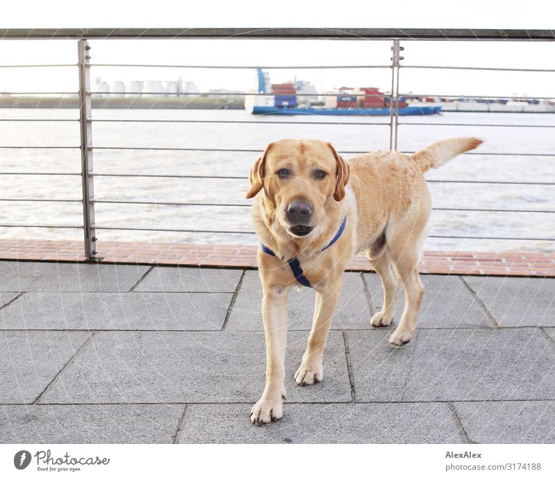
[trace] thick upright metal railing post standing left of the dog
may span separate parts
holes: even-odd
[[[83,230],[85,256],[96,257],[96,232],[94,224],[94,185],[92,176],[92,116],[90,46],[87,40],[78,40],[79,67],[79,127],[81,132],[81,179],[83,182]]]

